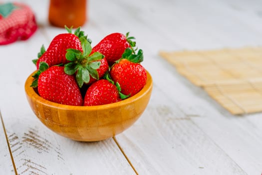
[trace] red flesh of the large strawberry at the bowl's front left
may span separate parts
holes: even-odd
[[[39,74],[38,93],[44,99],[67,105],[82,105],[80,89],[63,66],[51,66]]]

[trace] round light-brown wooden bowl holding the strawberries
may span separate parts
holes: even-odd
[[[35,115],[52,131],[79,141],[103,140],[130,127],[145,110],[153,86],[152,77],[147,72],[146,85],[134,96],[111,104],[71,106],[40,97],[30,87],[32,74],[24,86]]]

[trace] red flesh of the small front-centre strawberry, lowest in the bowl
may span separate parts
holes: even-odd
[[[102,105],[120,101],[120,95],[116,85],[107,79],[95,81],[87,89],[84,97],[84,105]]]

